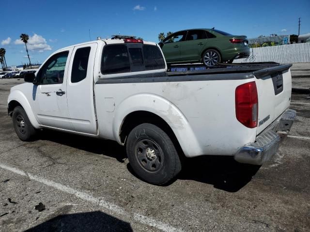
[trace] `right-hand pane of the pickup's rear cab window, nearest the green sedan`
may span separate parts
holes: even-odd
[[[143,55],[146,70],[165,68],[164,58],[157,46],[143,45]]]

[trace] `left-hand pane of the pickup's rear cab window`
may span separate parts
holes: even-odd
[[[101,58],[101,73],[130,72],[129,57],[126,45],[106,45]]]

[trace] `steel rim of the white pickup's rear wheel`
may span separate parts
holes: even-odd
[[[140,139],[135,146],[135,156],[140,166],[149,173],[157,173],[164,164],[161,147],[152,139]]]

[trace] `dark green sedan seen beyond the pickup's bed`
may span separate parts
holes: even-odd
[[[170,64],[202,62],[206,66],[214,66],[250,55],[247,36],[217,29],[177,31],[158,44]]]

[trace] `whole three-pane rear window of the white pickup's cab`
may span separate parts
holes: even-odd
[[[165,69],[160,48],[142,43],[108,44],[103,48],[101,73],[132,73]]]

